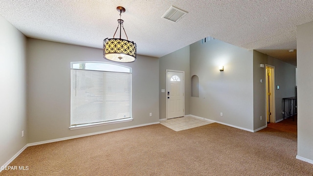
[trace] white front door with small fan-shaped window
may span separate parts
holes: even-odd
[[[167,118],[184,116],[183,110],[183,72],[167,71],[166,111]]]

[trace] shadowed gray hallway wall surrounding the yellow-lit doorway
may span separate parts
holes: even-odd
[[[266,122],[266,68],[260,68],[260,64],[268,64],[275,67],[275,119],[281,120],[282,98],[295,96],[295,66],[287,64],[278,59],[269,57],[258,51],[253,51],[253,113],[254,130],[264,127]],[[264,82],[260,83],[260,79]],[[286,108],[287,110],[287,108]],[[286,114],[287,115],[287,114]],[[262,116],[262,120],[260,120]]]

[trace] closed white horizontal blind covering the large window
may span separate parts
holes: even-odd
[[[71,126],[131,118],[132,74],[87,64],[71,69]]]

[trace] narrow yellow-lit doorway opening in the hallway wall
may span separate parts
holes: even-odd
[[[267,122],[275,123],[275,67],[266,65],[265,74]]]

